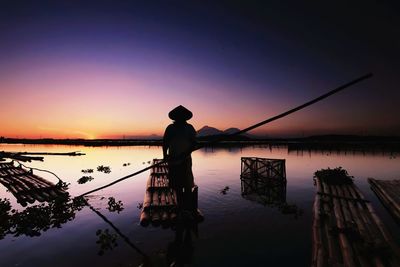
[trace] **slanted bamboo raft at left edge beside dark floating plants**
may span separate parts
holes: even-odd
[[[51,201],[68,194],[57,185],[26,170],[14,162],[0,163],[0,183],[4,185],[22,206],[35,201]]]

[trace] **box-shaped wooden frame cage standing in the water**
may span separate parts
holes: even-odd
[[[256,193],[266,197],[267,203],[286,197],[286,169],[284,159],[242,157],[242,195]]]

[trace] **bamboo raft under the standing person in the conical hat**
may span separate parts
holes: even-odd
[[[160,159],[154,159],[153,164],[160,161]],[[196,209],[197,192],[198,188],[195,185],[192,188],[192,196]],[[140,224],[146,227],[151,223],[153,226],[162,225],[166,228],[175,223],[178,216],[177,212],[177,195],[175,190],[169,187],[167,163],[153,167],[147,180],[143,207],[140,213]],[[197,209],[196,219],[202,220],[202,216]]]

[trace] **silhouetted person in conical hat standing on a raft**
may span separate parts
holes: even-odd
[[[178,208],[193,210],[191,191],[194,186],[191,152],[196,146],[196,130],[186,121],[192,118],[190,110],[178,106],[168,117],[174,122],[165,129],[164,159],[168,160],[170,187],[176,190]]]

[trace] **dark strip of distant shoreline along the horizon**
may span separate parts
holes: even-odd
[[[201,136],[198,143],[207,147],[243,147],[254,145],[288,146],[289,150],[384,149],[400,151],[400,136],[319,135],[302,138],[252,138],[249,136]],[[162,139],[18,139],[0,138],[0,144],[51,144],[82,146],[161,146]]]

